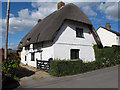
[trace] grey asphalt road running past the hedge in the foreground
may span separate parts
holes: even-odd
[[[28,79],[19,88],[118,88],[118,66],[72,76]]]

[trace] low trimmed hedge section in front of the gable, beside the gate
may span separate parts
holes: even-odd
[[[53,60],[50,63],[50,75],[66,76],[103,68],[102,62],[84,63],[82,60]]]

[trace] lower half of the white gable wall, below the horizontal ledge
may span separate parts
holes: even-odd
[[[81,46],[81,45],[54,45],[54,59],[70,59],[70,50],[71,49],[79,49],[79,58],[84,62],[94,61],[94,49],[92,46]]]

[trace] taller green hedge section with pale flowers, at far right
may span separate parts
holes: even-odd
[[[97,48],[94,45],[96,61],[104,63],[104,67],[120,64],[120,46],[113,45],[112,47]]]

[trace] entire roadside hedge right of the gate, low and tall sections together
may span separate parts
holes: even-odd
[[[120,46],[98,49],[94,46],[96,61],[84,63],[82,60],[53,60],[50,64],[50,74],[66,76],[84,73],[96,69],[120,64]]]

